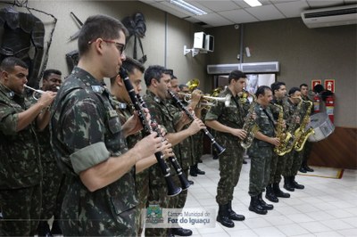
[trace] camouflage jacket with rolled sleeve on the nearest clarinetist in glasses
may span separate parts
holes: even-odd
[[[56,158],[71,174],[62,205],[62,218],[71,220],[66,226],[70,235],[136,234],[134,168],[95,192],[79,179],[79,172],[128,150],[113,108],[104,85],[77,67],[54,100],[51,141]]]

